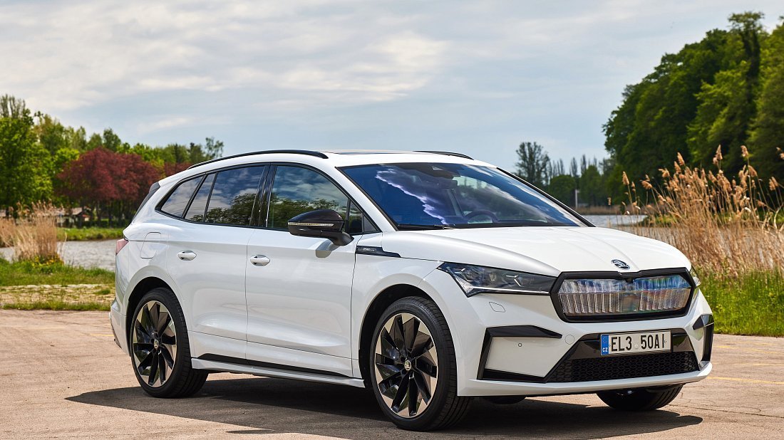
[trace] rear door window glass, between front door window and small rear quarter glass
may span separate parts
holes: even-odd
[[[256,203],[256,193],[263,174],[264,167],[220,171],[215,177],[212,193],[207,200],[205,222],[250,225],[253,204]]]

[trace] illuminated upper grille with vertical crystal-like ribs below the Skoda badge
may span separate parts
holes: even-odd
[[[636,280],[564,280],[558,298],[570,318],[677,312],[686,306],[691,285],[680,275]]]

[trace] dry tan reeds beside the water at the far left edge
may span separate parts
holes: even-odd
[[[13,245],[17,261],[42,264],[61,262],[57,248],[55,209],[50,204],[34,204],[20,211],[16,221],[4,218],[0,222],[0,241]]]

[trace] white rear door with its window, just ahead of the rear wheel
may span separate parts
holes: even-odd
[[[223,347],[244,357],[246,248],[265,169],[245,166],[205,175],[170,234],[169,273],[183,295],[188,330],[242,341],[222,345],[220,338],[202,338],[200,351],[228,355],[216,353]]]

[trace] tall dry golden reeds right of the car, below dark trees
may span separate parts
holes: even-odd
[[[717,171],[690,168],[681,154],[673,171],[660,169],[662,183],[641,182],[651,203],[641,204],[637,188],[626,174],[630,204],[627,214],[648,215],[646,225],[631,227],[633,233],[662,240],[680,249],[701,270],[737,276],[741,272],[784,269],[784,225],[781,222],[782,186],[767,182],[748,163],[737,176],[721,171],[721,152],[713,164]],[[660,227],[666,225],[668,227]]]

